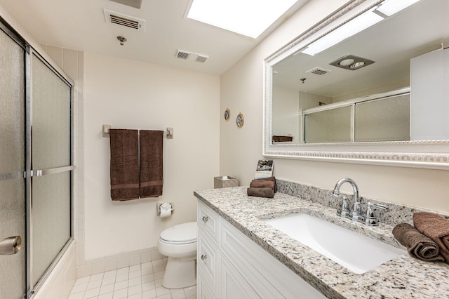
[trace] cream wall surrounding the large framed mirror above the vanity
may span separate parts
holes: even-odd
[[[220,173],[239,178],[241,185],[249,185],[257,159],[262,158],[262,60],[344,2],[309,1],[222,75],[220,114],[227,107],[242,112],[245,125],[239,130],[232,122],[221,122]],[[328,189],[340,178],[349,177],[358,183],[361,196],[449,213],[449,171],[275,159],[274,175]]]

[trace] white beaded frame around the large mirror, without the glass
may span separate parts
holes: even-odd
[[[272,144],[272,67],[383,0],[354,0],[264,60],[262,155],[269,158],[449,169],[449,140]]]

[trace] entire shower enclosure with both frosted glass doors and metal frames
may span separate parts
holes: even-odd
[[[73,84],[0,21],[0,298],[32,298],[72,241]]]

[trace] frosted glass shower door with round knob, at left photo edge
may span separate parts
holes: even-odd
[[[24,55],[0,27],[0,298],[13,299],[26,291]]]

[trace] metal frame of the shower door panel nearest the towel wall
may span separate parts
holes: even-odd
[[[32,95],[32,58],[33,55],[36,56],[41,62],[43,62],[46,67],[51,69],[51,71],[56,74],[62,81],[64,81],[65,84],[67,84],[70,87],[70,165],[69,166],[61,166],[58,168],[51,168],[51,169],[41,169],[41,170],[33,170],[32,169],[32,104],[33,104],[33,95]],[[25,53],[25,119],[26,119],[26,125],[25,125],[25,144],[26,146],[26,157],[25,157],[25,194],[26,194],[26,231],[27,231],[27,293],[26,298],[32,298],[34,296],[34,293],[41,288],[42,284],[48,276],[51,274],[52,270],[57,265],[58,261],[62,258],[62,255],[65,253],[69,245],[73,241],[73,235],[74,235],[74,227],[73,227],[73,185],[74,185],[74,175],[73,171],[76,168],[74,166],[74,114],[73,114],[73,107],[74,107],[74,100],[73,100],[73,88],[74,83],[72,79],[69,79],[67,75],[60,69],[58,66],[51,65],[51,63],[46,60],[46,58],[43,58],[42,55],[40,55],[31,45],[27,44],[26,47],[26,53]],[[48,267],[48,269],[44,272],[43,276],[39,279],[36,279],[36,277],[33,277],[33,250],[32,250],[32,241],[33,241],[33,208],[32,208],[32,178],[35,176],[43,176],[43,175],[51,175],[53,173],[61,173],[69,171],[70,172],[70,237],[67,240],[65,246],[63,246],[58,253],[58,255],[55,257],[51,265]],[[37,281],[36,281],[37,280]]]

